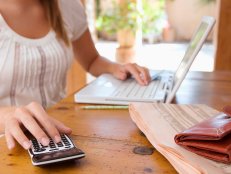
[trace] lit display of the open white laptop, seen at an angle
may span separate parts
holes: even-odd
[[[191,42],[188,46],[188,49],[185,52],[185,55],[184,55],[180,65],[179,65],[179,67],[177,68],[177,71],[175,72],[173,84],[176,84],[178,80],[182,79],[182,76],[184,76],[185,71],[188,70],[188,67],[186,65],[189,64],[191,57],[195,53],[196,48],[198,47],[198,44],[203,39],[207,29],[208,29],[208,23],[202,22],[200,24],[198,30],[196,31],[196,33],[192,37]]]

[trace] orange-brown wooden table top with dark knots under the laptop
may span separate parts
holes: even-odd
[[[192,72],[177,92],[175,103],[204,103],[216,109],[231,104],[231,72]],[[0,173],[176,173],[157,151],[140,155],[134,148],[152,149],[127,110],[82,110],[73,95],[48,113],[73,129],[74,142],[86,157],[68,163],[34,167],[21,147],[9,151],[0,139]]]

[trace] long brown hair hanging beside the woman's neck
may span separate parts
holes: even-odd
[[[66,45],[70,45],[70,40],[64,28],[63,18],[59,9],[58,0],[41,0],[46,16],[51,28],[56,32],[57,37],[62,39]]]

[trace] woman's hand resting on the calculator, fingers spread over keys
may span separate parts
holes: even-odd
[[[44,146],[49,144],[48,136],[58,143],[61,141],[59,133],[71,133],[70,128],[48,116],[43,107],[36,102],[14,108],[4,115],[3,123],[9,149],[15,147],[15,140],[24,149],[31,147],[31,142],[24,134],[25,129]]]

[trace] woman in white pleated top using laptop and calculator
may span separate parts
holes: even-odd
[[[111,73],[124,80],[132,75],[141,85],[150,81],[146,68],[99,55],[79,0],[0,0],[0,55],[0,125],[9,149],[15,140],[30,148],[23,130],[45,146],[48,136],[59,142],[59,133],[71,133],[43,108],[65,96],[72,57],[94,76]]]

